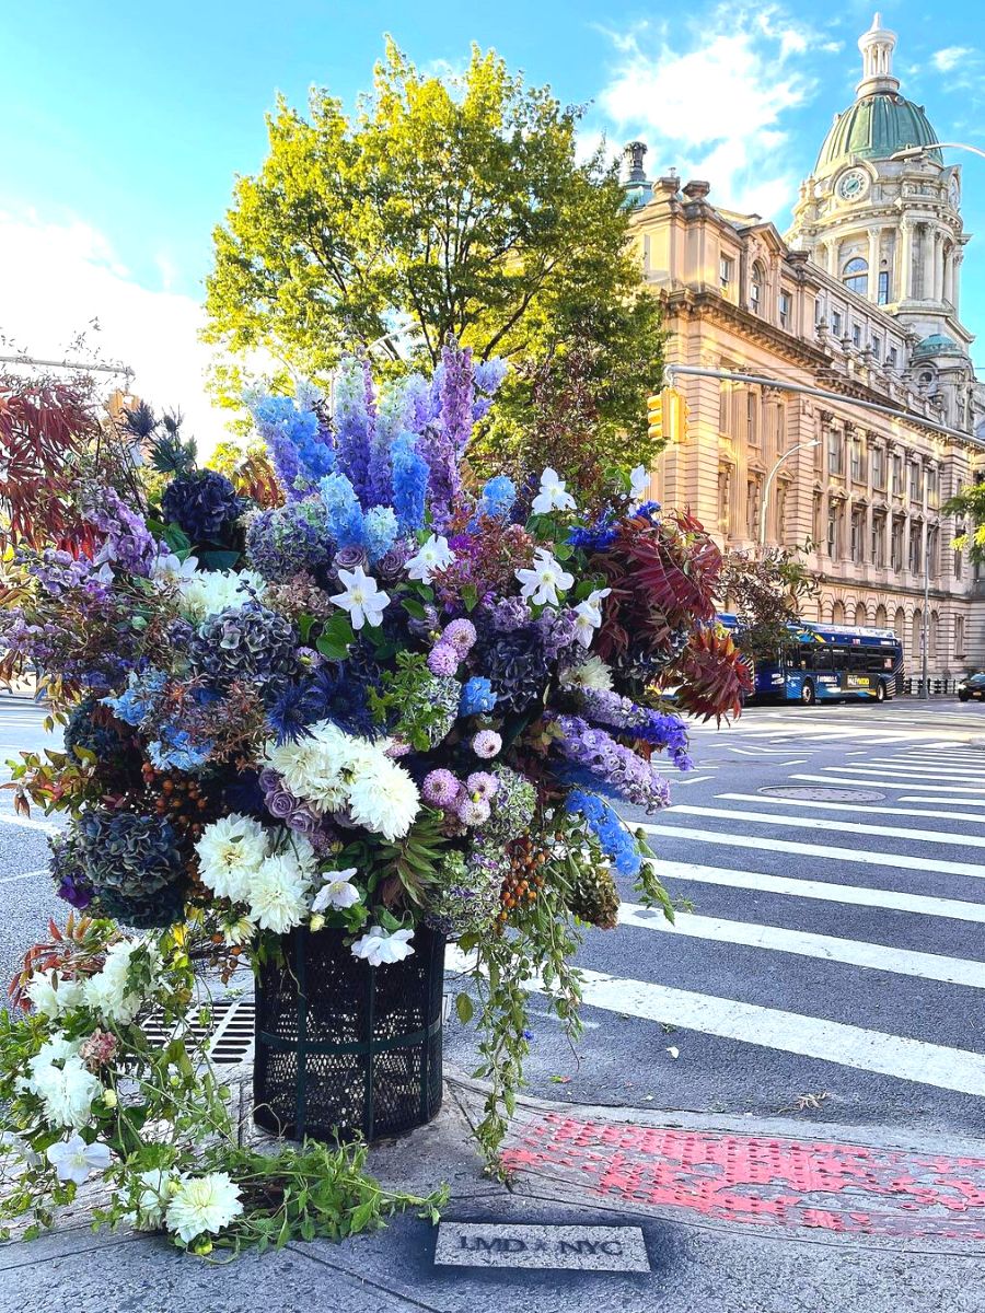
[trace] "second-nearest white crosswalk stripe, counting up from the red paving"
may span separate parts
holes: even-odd
[[[653,913],[638,903],[623,903],[619,909],[619,920],[624,926],[636,926],[659,934],[711,939],[725,944],[742,944],[746,948],[768,948],[779,953],[797,953],[801,957],[821,957],[825,961],[847,962],[850,966],[894,972],[897,976],[943,981],[946,985],[985,989],[985,962],[976,962],[965,957],[919,953],[906,948],[890,948],[885,944],[869,944],[859,939],[839,939],[834,935],[816,935],[802,930],[787,930],[783,926],[726,920],[721,916],[697,916],[692,913],[679,913],[671,923],[663,913]]]

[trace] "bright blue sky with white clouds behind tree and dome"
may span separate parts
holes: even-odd
[[[0,16],[0,334],[49,353],[96,316],[105,357],[127,355],[138,387],[197,424],[196,344],[210,231],[234,175],[263,159],[263,116],[313,83],[347,104],[369,84],[382,34],[422,66],[460,67],[494,46],[565,101],[591,102],[586,143],[642,137],[651,173],[674,165],[712,200],[783,228],[800,179],[860,74],[872,4],[843,0],[486,5],[33,0]],[[985,144],[978,0],[886,0],[904,93],[943,140]],[[981,126],[980,126],[981,125]],[[985,335],[985,160],[964,167],[963,310]],[[985,372],[985,340],[976,343]],[[202,435],[205,436],[205,435]]]

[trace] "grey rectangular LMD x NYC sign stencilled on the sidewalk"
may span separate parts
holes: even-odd
[[[448,1267],[558,1267],[584,1272],[649,1272],[638,1226],[541,1226],[441,1222],[435,1263]]]

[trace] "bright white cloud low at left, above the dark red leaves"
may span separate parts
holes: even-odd
[[[165,256],[156,263],[167,286],[172,267]],[[210,348],[198,341],[202,306],[142,286],[96,228],[0,210],[0,335],[18,351],[63,358],[85,332],[88,357],[129,365],[133,390],[158,411],[180,410],[185,433],[204,453],[225,436],[229,412],[205,391]],[[121,383],[110,378],[109,387]]]

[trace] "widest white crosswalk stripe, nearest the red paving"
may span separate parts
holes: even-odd
[[[588,1006],[609,1012],[839,1062],[939,1090],[985,1095],[985,1054],[965,1049],[602,972],[582,972],[582,995]]]

